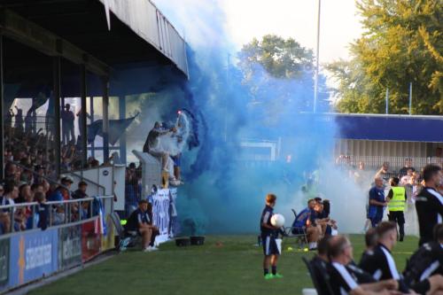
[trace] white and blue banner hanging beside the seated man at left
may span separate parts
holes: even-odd
[[[167,235],[169,229],[170,191],[158,190],[152,197],[153,224],[159,228],[160,235]]]

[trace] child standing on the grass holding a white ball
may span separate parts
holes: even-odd
[[[276,243],[276,237],[278,236],[279,229],[284,224],[284,218],[283,215],[280,214],[274,215],[274,206],[276,206],[276,195],[268,194],[266,196],[266,206],[263,209],[260,218],[261,242],[263,245],[263,253],[265,255],[263,260],[265,280],[283,277],[276,271],[276,264],[280,255],[280,249]],[[272,268],[270,274],[269,265],[271,265]]]

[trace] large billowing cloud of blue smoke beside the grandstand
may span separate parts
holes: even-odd
[[[180,21],[186,26],[190,80],[165,66],[145,73],[148,77],[152,74],[155,94],[140,106],[140,117],[146,119],[138,126],[145,132],[155,120],[174,120],[178,109],[190,114],[193,137],[189,151],[183,152],[185,184],[177,198],[183,234],[255,232],[268,192],[277,195],[276,211],[291,222],[291,207],[301,210],[309,197],[301,187],[312,173],[323,167],[323,173],[336,174],[328,168],[335,123],[309,113],[314,89],[312,69],[292,81],[273,78],[256,65],[250,83],[259,91],[253,92],[236,66],[217,2],[158,4],[173,23]],[[323,87],[324,82],[322,76]],[[318,109],[328,110],[325,95],[320,98]],[[242,143],[251,142],[274,144],[276,160],[243,160],[252,151]],[[291,162],[286,161],[288,156]],[[331,189],[334,179],[318,184],[317,190],[332,202],[335,198],[338,205],[342,192]]]

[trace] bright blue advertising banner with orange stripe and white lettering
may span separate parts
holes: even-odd
[[[58,269],[58,229],[36,230],[11,237],[9,284],[15,286]]]

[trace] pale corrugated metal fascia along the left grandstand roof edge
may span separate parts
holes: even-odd
[[[149,0],[99,0],[137,35],[151,43],[189,76],[184,39]],[[112,24],[111,24],[111,29]]]

